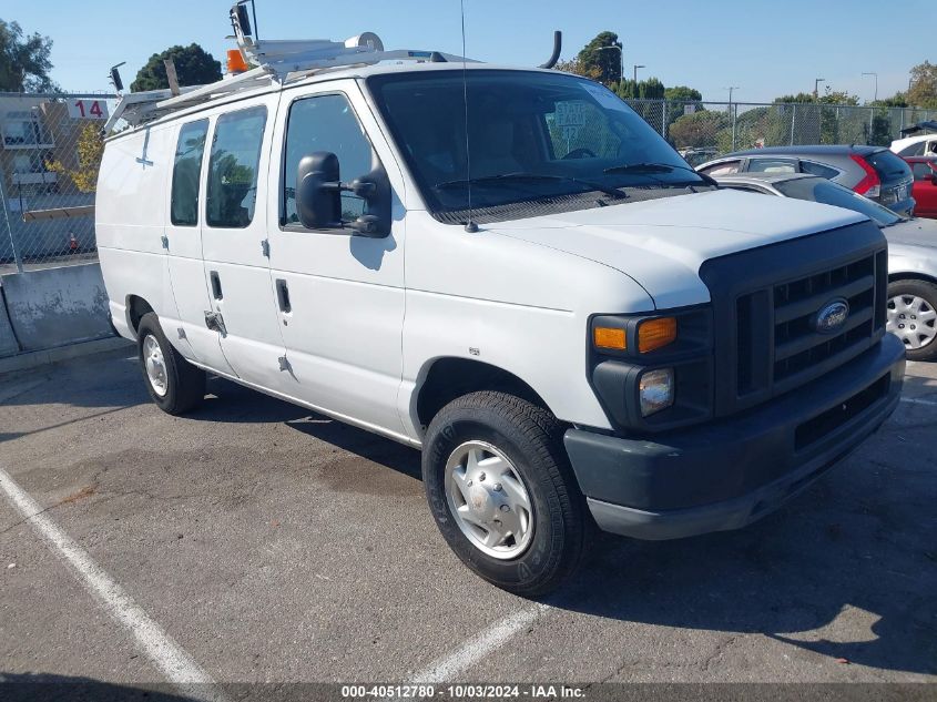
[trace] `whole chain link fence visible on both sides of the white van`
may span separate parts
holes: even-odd
[[[0,273],[96,258],[100,129],[115,100],[105,93],[0,93]],[[692,165],[760,146],[887,146],[902,129],[937,119],[937,111],[913,108],[628,102]]]

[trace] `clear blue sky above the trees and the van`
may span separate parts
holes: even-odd
[[[52,77],[68,90],[106,90],[108,69],[126,61],[129,84],[150,54],[193,41],[222,59],[233,43],[233,0],[48,0],[4,2],[0,18],[54,41]],[[458,0],[257,0],[261,37],[344,39],[378,33],[389,48],[461,52]],[[602,30],[624,42],[625,71],[666,85],[688,84],[704,99],[724,101],[737,85],[740,101],[771,101],[809,92],[815,78],[837,90],[880,96],[905,90],[908,70],[934,59],[931,38],[913,18],[933,18],[933,0],[466,0],[468,55],[532,65],[563,30],[570,58]],[[929,20],[928,20],[929,21]],[[917,38],[916,38],[917,37]]]

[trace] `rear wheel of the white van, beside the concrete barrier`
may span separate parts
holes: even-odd
[[[167,415],[179,416],[202,404],[205,399],[205,372],[185,360],[173,348],[163,334],[155,313],[150,312],[140,321],[136,348],[146,389],[160,409]],[[162,373],[155,373],[157,379],[154,380],[147,368],[153,368],[150,360],[156,349],[162,364],[156,363],[155,367],[162,368]]]

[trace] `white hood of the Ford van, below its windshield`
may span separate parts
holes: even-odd
[[[788,197],[721,190],[552,214],[485,228],[621,271],[659,309],[710,301],[700,266],[710,258],[866,220]]]

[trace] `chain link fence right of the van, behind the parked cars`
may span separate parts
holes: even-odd
[[[668,100],[627,102],[691,165],[733,151],[762,146],[888,146],[900,139],[906,126],[937,119],[937,110],[917,108]]]

